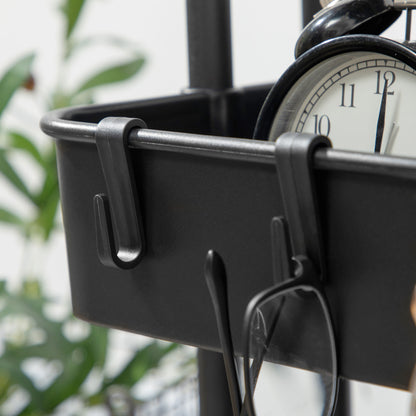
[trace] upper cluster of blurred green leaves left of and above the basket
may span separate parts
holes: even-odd
[[[140,72],[145,64],[145,58],[128,42],[118,37],[94,37],[78,40],[74,38],[76,24],[82,16],[86,0],[65,0],[61,11],[65,17],[65,35],[63,36],[63,62],[61,72],[65,73],[71,58],[80,49],[90,47],[96,43],[113,44],[118,49],[124,49],[129,58],[126,62],[117,63],[110,67],[100,69],[97,73],[89,75],[80,85],[67,90],[64,88],[62,78],[54,91],[51,92],[45,110],[53,110],[75,104],[93,103],[93,94],[99,87],[128,80]],[[33,53],[24,56],[15,62],[0,79],[0,131],[4,137],[5,145],[0,149],[0,172],[3,177],[32,205],[29,217],[21,218],[6,207],[0,206],[0,221],[20,228],[27,238],[42,238],[47,241],[52,230],[55,229],[56,212],[59,206],[59,190],[56,173],[55,148],[51,140],[46,146],[39,147],[34,137],[28,137],[23,132],[5,130],[1,124],[1,116],[7,108],[12,96],[21,88],[36,89],[36,80],[33,78]],[[34,162],[43,174],[41,186],[31,190],[27,181],[19,174],[13,165],[13,155],[24,154]],[[33,212],[35,215],[33,215]]]

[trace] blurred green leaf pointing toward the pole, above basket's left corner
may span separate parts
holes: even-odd
[[[125,81],[136,75],[143,67],[145,59],[142,56],[136,57],[124,64],[112,66],[84,82],[74,95],[91,88],[107,85],[115,82]]]

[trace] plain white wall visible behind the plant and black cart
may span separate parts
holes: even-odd
[[[207,0],[209,1],[209,0]],[[27,52],[37,53],[35,79],[37,92],[16,96],[5,121],[10,126],[30,130],[46,140],[38,121],[46,109],[38,106],[53,89],[58,76],[59,39],[62,20],[58,0],[13,0],[0,4],[0,74],[11,62]],[[233,65],[235,85],[273,82],[293,61],[293,48],[301,30],[300,0],[232,0]],[[148,58],[145,69],[133,81],[108,87],[98,95],[101,102],[123,101],[176,94],[188,85],[185,0],[92,0],[77,29],[77,36],[115,34],[137,42]],[[389,36],[403,38],[403,19]],[[122,53],[116,48],[94,48],[80,55],[71,67],[67,85],[75,85],[86,73],[93,73],[105,62],[114,62]],[[29,126],[29,127],[27,127]],[[30,166],[22,166],[29,171]],[[36,183],[36,174],[33,174]],[[17,195],[0,182],[0,201],[17,211],[26,209]],[[22,263],[19,236],[0,229],[0,277],[15,283]],[[44,274],[51,294],[68,303],[68,275],[62,233],[50,246]],[[131,337],[128,338],[129,342]],[[123,338],[119,343],[128,344]],[[356,415],[405,415],[403,393],[358,387]],[[381,393],[380,393],[381,392]]]

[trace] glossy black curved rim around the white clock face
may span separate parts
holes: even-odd
[[[301,55],[273,85],[259,112],[253,138],[268,140],[273,120],[283,99],[306,72],[328,58],[358,51],[381,53],[416,70],[416,53],[394,40],[376,35],[346,35],[327,40]]]

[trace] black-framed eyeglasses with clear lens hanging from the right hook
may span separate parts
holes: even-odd
[[[275,285],[252,298],[243,322],[244,402],[231,338],[225,266],[214,251],[208,252],[205,263],[233,414],[330,416],[338,388],[337,353],[321,276],[307,256],[291,255],[282,217],[272,220],[272,242]]]

